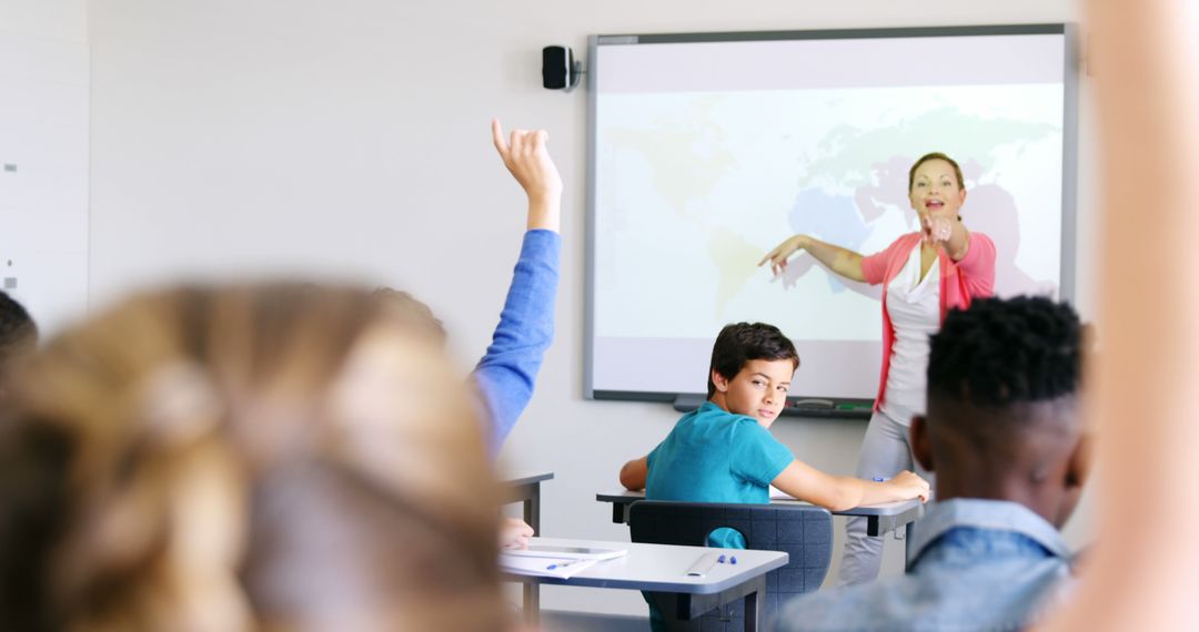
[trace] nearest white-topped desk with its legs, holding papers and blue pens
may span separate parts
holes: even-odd
[[[577,585],[656,592],[658,608],[668,622],[689,621],[713,608],[745,598],[747,632],[763,628],[766,573],[787,565],[789,559],[782,551],[737,551],[736,564],[717,564],[704,577],[692,577],[687,575],[687,570],[711,553],[711,548],[560,537],[535,537],[534,542],[564,547],[620,548],[628,553],[598,561],[567,579],[522,575],[506,575],[506,579],[524,582],[525,585]]]

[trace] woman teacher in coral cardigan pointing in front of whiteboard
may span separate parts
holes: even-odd
[[[968,231],[958,215],[966,200],[958,164],[944,153],[921,157],[908,174],[908,195],[922,230],[899,237],[881,253],[862,256],[796,235],[758,262],[769,261],[778,274],[787,268],[787,259],[802,249],[846,279],[885,284],[882,376],[857,458],[857,476],[867,480],[918,468],[908,425],[912,415],[924,414],[928,336],[940,329],[950,309],[965,309],[971,299],[992,296],[995,285],[995,244],[986,235]],[[840,584],[873,581],[882,539],[867,537],[864,518],[851,518],[845,535]]]

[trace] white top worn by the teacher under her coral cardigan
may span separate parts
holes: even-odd
[[[920,278],[921,248],[911,249],[908,262],[887,285],[887,315],[896,339],[891,347],[891,369],[882,396],[882,412],[909,425],[912,415],[924,414],[928,390],[928,336],[941,328],[940,257]]]

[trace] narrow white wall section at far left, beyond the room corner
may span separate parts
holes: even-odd
[[[86,10],[0,1],[0,288],[42,332],[88,306]]]

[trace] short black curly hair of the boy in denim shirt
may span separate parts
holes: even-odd
[[[1046,297],[983,298],[932,336],[928,399],[995,408],[1074,394],[1083,372],[1078,314]]]

